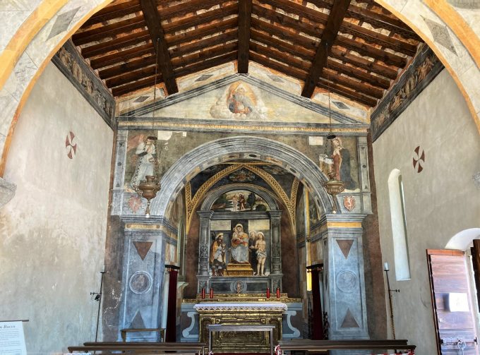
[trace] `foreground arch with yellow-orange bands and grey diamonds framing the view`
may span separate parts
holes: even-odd
[[[42,0],[38,4],[24,5],[24,8],[20,9],[23,11],[19,11],[15,6],[12,6],[11,10],[7,8],[7,11],[2,11],[5,18],[16,20],[6,23],[2,29],[4,36],[0,42],[0,104],[4,107],[0,113],[0,176],[4,175],[8,148],[16,121],[37,78],[73,32],[80,28],[93,13],[107,6],[111,1]],[[450,8],[449,11],[438,11],[438,8],[432,10],[430,1],[417,0],[376,0],[376,2],[407,23],[433,49],[455,79],[480,131],[480,92],[477,85],[480,82],[480,69],[475,63],[480,59],[478,51],[467,50],[472,47],[469,34],[474,32],[478,38],[479,30],[467,23],[463,25],[464,31],[458,30],[455,26],[452,28],[453,32],[449,30],[448,23],[452,23],[451,14],[456,13],[461,16],[456,8]],[[444,4],[444,6],[447,5]],[[22,7],[22,5],[18,6]],[[71,23],[68,23],[58,35],[50,37],[57,18],[75,8],[77,10]],[[23,21],[19,20],[19,13],[24,17]],[[480,18],[480,14],[477,16]],[[428,28],[426,19],[436,23],[437,30]],[[438,29],[441,32],[442,28],[443,32],[450,36],[455,52],[452,52],[452,48],[445,47],[443,45],[445,43],[442,44],[434,34]]]

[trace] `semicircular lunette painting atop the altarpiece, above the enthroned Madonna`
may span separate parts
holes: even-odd
[[[268,211],[270,208],[263,198],[252,191],[234,190],[224,193],[220,198],[217,198],[211,210],[215,212],[243,212],[248,210]]]

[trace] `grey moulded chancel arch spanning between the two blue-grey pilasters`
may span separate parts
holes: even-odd
[[[332,197],[322,186],[326,181],[325,176],[320,167],[304,153],[276,140],[238,136],[204,143],[177,160],[162,176],[162,189],[152,200],[150,207],[152,215],[165,215],[169,202],[184,188],[185,176],[191,176],[198,169],[203,170],[220,162],[238,158],[281,164],[306,185],[318,207],[324,211],[331,210]]]

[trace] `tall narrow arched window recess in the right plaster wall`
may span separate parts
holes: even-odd
[[[392,219],[393,253],[395,256],[395,277],[397,280],[410,279],[410,265],[407,243],[407,220],[402,174],[393,169],[388,177],[390,195],[390,216]]]

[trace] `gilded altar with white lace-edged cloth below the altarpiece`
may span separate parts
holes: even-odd
[[[266,302],[200,302],[193,308],[199,315],[200,342],[209,342],[213,352],[270,352],[271,344],[282,339],[282,315],[287,304]],[[213,332],[209,325],[251,325],[252,331]],[[273,326],[270,332],[258,332],[258,325]]]

